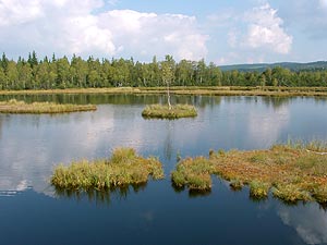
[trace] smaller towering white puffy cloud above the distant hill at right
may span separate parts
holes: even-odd
[[[293,38],[282,28],[283,21],[277,15],[277,10],[268,3],[247,12],[245,22],[249,23],[243,39],[245,46],[266,48],[283,54],[290,52]]]

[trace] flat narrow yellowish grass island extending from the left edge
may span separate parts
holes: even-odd
[[[17,101],[11,99],[9,101],[0,102],[0,113],[64,113],[76,111],[94,111],[96,110],[94,105],[72,105],[72,103],[53,103],[53,102],[33,102],[26,103],[24,101]]]

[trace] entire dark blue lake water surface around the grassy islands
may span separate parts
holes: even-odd
[[[0,100],[10,99],[0,96]],[[169,174],[177,155],[267,148],[293,139],[327,140],[327,99],[174,97],[196,119],[144,120],[160,96],[16,96],[27,101],[96,103],[96,112],[0,114],[0,244],[327,244],[318,204],[286,206],[249,198],[214,177],[210,194],[178,192]],[[56,193],[58,162],[110,155],[119,146],[154,155],[166,180],[110,193]]]

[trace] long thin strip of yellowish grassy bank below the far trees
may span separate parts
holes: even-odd
[[[50,90],[0,90],[0,95],[49,95],[49,94],[166,94],[166,87],[112,87],[112,88],[66,88]],[[239,86],[175,86],[174,95],[211,96],[326,96],[327,87],[239,87]]]

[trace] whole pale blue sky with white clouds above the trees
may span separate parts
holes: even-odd
[[[327,0],[0,0],[0,52],[218,65],[327,60]]]

